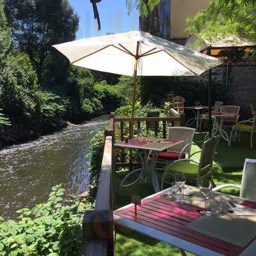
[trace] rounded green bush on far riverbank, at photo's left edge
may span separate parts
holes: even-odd
[[[39,88],[26,54],[8,56],[0,73],[0,84],[1,108],[12,124],[33,124],[40,107],[36,95]]]

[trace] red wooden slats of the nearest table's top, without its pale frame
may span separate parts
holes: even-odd
[[[244,201],[242,205],[256,209],[256,204],[251,201]],[[173,200],[156,195],[153,198],[143,200],[141,206],[137,207],[136,217],[134,205],[116,211],[115,215],[136,221],[142,225],[179,237],[190,243],[198,244],[223,255],[237,256],[246,249],[246,247],[241,248],[220,239],[189,230],[186,225],[199,218],[201,216],[200,211],[202,211],[202,208],[195,205],[179,205]]]

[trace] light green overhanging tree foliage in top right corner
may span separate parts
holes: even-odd
[[[189,17],[186,31],[200,38],[237,35],[256,42],[256,0],[214,0]]]

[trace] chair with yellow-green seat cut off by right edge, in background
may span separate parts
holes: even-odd
[[[241,121],[233,127],[231,134],[230,134],[230,140],[228,143],[229,146],[231,145],[231,141],[232,141],[234,132],[239,132],[239,142],[240,142],[241,132],[250,132],[251,133],[251,148],[253,148],[253,134],[256,134],[256,115],[253,113],[252,113],[252,115],[253,115],[253,118]],[[236,138],[236,136],[235,136],[235,138]]]

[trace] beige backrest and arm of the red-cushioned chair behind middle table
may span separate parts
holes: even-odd
[[[185,145],[192,143],[196,129],[189,128],[189,127],[170,127],[168,129],[168,138],[169,139],[176,139],[176,140],[183,140],[184,143],[172,147],[171,151],[180,152]],[[188,154],[190,156],[191,145],[184,150],[184,154]]]

